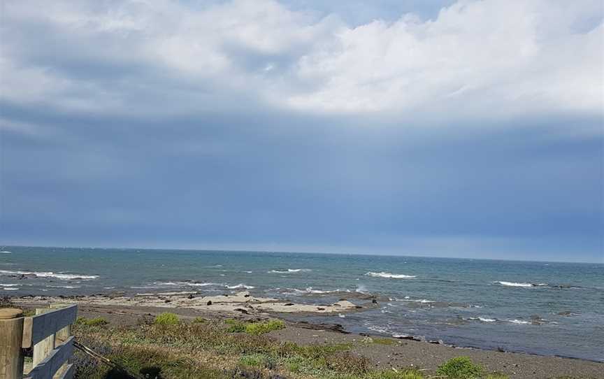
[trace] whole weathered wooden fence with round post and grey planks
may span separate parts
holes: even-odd
[[[38,308],[32,317],[23,317],[20,309],[0,309],[0,379],[73,378],[71,324],[77,315],[76,305]],[[33,362],[24,364],[23,348],[32,345]]]

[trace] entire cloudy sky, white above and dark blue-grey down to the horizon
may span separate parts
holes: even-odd
[[[1,1],[0,243],[604,263],[604,9]]]

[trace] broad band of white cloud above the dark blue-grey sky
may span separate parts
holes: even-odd
[[[18,1],[5,12],[0,96],[13,103],[138,116],[245,101],[461,118],[603,108],[598,1],[460,0],[434,20],[354,28],[272,0]],[[40,31],[52,43],[34,43]]]

